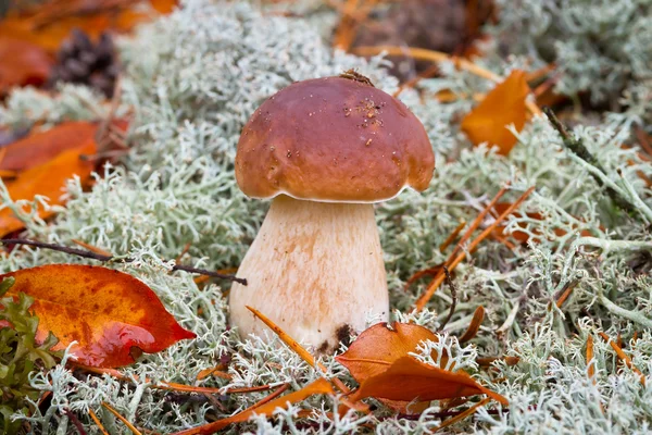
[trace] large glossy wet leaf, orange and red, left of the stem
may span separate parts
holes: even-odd
[[[105,268],[50,264],[0,275],[13,276],[8,295],[34,298],[37,340],[51,331],[85,365],[116,368],[134,362],[133,350],[152,353],[195,338],[165,311],[154,291],[135,277]],[[136,349],[134,349],[136,348]]]

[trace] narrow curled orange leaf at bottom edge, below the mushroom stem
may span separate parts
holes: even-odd
[[[192,427],[186,431],[177,432],[173,435],[208,435],[214,434],[233,423],[241,423],[249,420],[253,414],[259,415],[271,415],[276,409],[287,409],[288,403],[297,403],[310,396],[317,394],[335,394],[330,383],[323,377],[314,381],[298,391],[290,393],[281,396],[277,399],[271,400],[259,407],[248,408],[242,412],[226,419],[217,420],[215,422],[204,424],[202,426]]]

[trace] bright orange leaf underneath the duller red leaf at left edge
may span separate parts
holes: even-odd
[[[83,154],[95,154],[97,146],[93,140],[86,142],[83,147],[61,152],[54,159],[27,171],[18,173],[15,179],[7,182],[10,197],[16,201],[20,199],[33,200],[36,195],[42,195],[50,199],[50,206],[61,206],[63,188],[68,178],[77,175],[83,184],[90,179],[93,163],[80,159]],[[30,206],[25,206],[29,211]],[[51,209],[39,207],[38,215],[47,219],[54,213]],[[25,225],[16,217],[10,209],[0,209],[0,237],[22,229]]]

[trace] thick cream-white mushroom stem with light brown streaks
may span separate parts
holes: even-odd
[[[242,337],[269,334],[253,307],[299,343],[334,351],[369,316],[386,321],[387,277],[374,208],[368,203],[274,199],[238,269],[230,323]]]

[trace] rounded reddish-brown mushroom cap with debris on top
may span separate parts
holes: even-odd
[[[428,187],[424,126],[405,104],[343,77],[298,82],[267,99],[240,136],[236,179],[254,198],[376,202]]]

